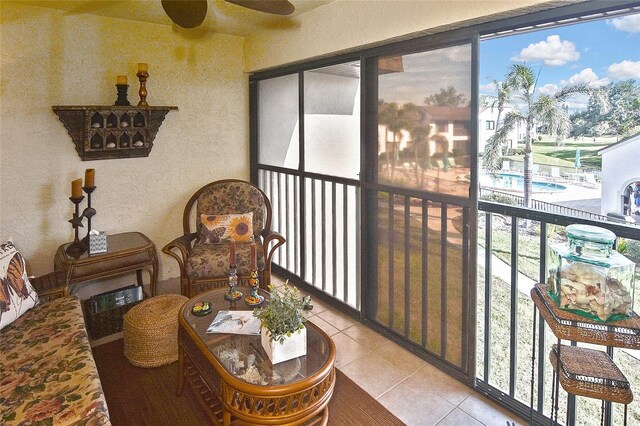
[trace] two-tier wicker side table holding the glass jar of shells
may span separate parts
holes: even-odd
[[[558,338],[549,353],[553,367],[551,390],[551,421],[558,419],[559,386],[573,395],[597,398],[625,404],[624,421],[627,423],[627,404],[633,400],[629,382],[605,353],[593,349],[562,345],[562,339],[640,349],[640,317],[636,313],[621,321],[597,322],[587,317],[560,309],[547,293],[547,286],[536,284],[531,299],[542,318]],[[531,414],[533,419],[533,380],[535,368],[536,313],[533,313],[533,352],[531,368]],[[542,343],[541,343],[542,344]],[[559,364],[559,365],[558,365]]]

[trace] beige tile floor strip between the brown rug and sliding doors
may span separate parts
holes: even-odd
[[[317,299],[312,303],[308,319],[333,339],[336,366],[406,424],[526,424],[359,321]]]

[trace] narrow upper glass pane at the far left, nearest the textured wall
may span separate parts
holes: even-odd
[[[298,75],[258,82],[258,162],[298,168]]]

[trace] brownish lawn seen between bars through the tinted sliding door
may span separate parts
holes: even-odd
[[[396,208],[403,206],[396,205]],[[430,209],[439,209],[440,205],[434,205]],[[450,210],[450,214],[453,212]],[[430,213],[431,214],[431,213]],[[430,220],[436,220],[430,218]],[[439,218],[437,219],[439,220]],[[428,255],[422,257],[422,233],[427,229],[415,216],[410,218],[409,259],[405,259],[404,240],[404,215],[401,211],[394,210],[393,232],[389,232],[389,209],[387,200],[381,199],[378,210],[378,284],[376,298],[376,312],[374,319],[382,324],[390,326],[401,334],[408,335],[409,339],[423,345],[422,331],[426,328],[426,349],[439,354],[442,350],[441,325],[446,327],[445,359],[455,365],[461,364],[462,351],[462,247],[456,244],[447,244],[447,306],[446,318],[442,318],[442,289],[441,284],[441,238],[442,234],[428,229],[427,244]],[[456,229],[449,229],[450,236],[459,234]],[[389,243],[392,239],[394,250],[390,255]],[[393,259],[393,277],[389,276],[389,262]],[[422,268],[426,263],[426,286],[423,288]],[[408,265],[408,278],[406,282],[405,265]],[[409,294],[405,294],[406,292]],[[423,301],[423,295],[426,299]],[[409,296],[409,309],[405,309],[405,297]],[[393,297],[393,304],[390,300]],[[423,302],[426,304],[426,315],[422,315]],[[393,317],[390,318],[390,311]],[[409,323],[409,329],[405,330],[405,321]]]

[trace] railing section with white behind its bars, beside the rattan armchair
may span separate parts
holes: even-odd
[[[287,237],[276,269],[360,310],[358,182],[261,166],[258,185],[271,200],[272,228]]]

